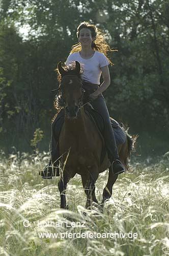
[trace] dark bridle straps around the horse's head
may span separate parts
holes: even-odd
[[[82,105],[82,100],[83,100],[83,95],[84,95],[84,93],[85,93],[85,88],[83,87],[83,84],[82,84],[81,79],[80,79],[77,75],[65,75],[65,76],[62,77],[61,82],[60,82],[60,85],[59,85],[59,88],[53,90],[53,91],[58,91],[57,95],[55,95],[55,100],[58,98],[58,100],[59,100],[60,102],[62,102],[63,107],[65,108],[66,102],[65,102],[65,100],[62,98],[62,89],[61,89],[62,81],[63,81],[63,79],[64,79],[65,77],[77,77],[77,78],[79,79],[79,81],[80,81],[80,84],[81,84],[81,86],[80,86],[80,88],[81,88],[81,97],[79,98],[79,104],[78,104],[78,110],[79,110],[80,108],[82,108],[83,105],[86,105],[86,104],[83,104],[83,105]]]

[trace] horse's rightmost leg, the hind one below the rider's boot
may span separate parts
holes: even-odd
[[[112,195],[112,186],[115,184],[117,178],[118,178],[118,175],[114,175],[112,173],[111,167],[109,167],[108,180],[107,180],[107,184],[106,184],[106,186],[103,190],[103,199],[102,199],[101,204],[104,204],[104,202],[111,197],[111,195]]]

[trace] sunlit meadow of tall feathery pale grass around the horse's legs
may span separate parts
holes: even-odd
[[[60,209],[59,178],[43,180],[48,154],[16,152],[0,162],[0,255],[169,255],[169,153],[130,163],[103,213],[86,210],[76,175],[67,187],[69,210]],[[107,171],[96,183],[101,201]],[[83,212],[86,211],[86,216]]]

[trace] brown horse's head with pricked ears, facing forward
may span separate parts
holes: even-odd
[[[60,93],[64,102],[65,113],[68,118],[74,119],[77,117],[83,97],[80,64],[75,61],[74,69],[65,70],[59,62],[58,71],[61,74]]]

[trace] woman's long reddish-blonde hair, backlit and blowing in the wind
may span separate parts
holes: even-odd
[[[109,61],[109,63],[111,65],[114,65],[111,60],[107,57],[107,52],[114,52],[114,51],[118,51],[118,50],[111,50],[111,48],[109,47],[109,45],[107,44],[107,42],[104,40],[104,35],[95,25],[92,25],[88,22],[82,22],[78,28],[77,28],[77,37],[79,38],[80,35],[80,30],[81,29],[90,29],[91,31],[91,35],[93,41],[92,41],[92,49],[96,50],[98,52],[102,52],[104,53],[104,55],[106,56],[107,60]],[[79,52],[81,51],[81,44],[80,42],[78,42],[77,44],[72,46],[72,50],[70,53],[74,53],[74,52]]]

